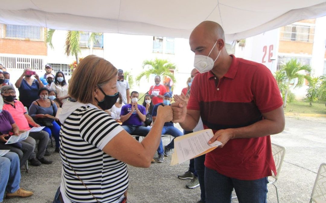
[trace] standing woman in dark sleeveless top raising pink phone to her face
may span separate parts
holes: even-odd
[[[32,78],[35,76],[35,79]],[[31,106],[32,102],[38,99],[38,89],[44,87],[43,82],[39,76],[31,68],[25,68],[22,75],[18,78],[15,86],[19,91],[19,101],[22,102],[27,109]]]

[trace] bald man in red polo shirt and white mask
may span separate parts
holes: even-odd
[[[201,116],[204,129],[222,145],[206,154],[206,202],[266,202],[267,177],[276,174],[271,134],[284,130],[283,101],[264,65],[228,55],[222,27],[200,23],[189,38],[194,67],[187,107],[173,103],[173,121],[191,131]]]

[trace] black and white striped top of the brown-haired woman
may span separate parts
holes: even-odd
[[[67,117],[60,131],[60,191],[65,202],[96,202],[87,188],[99,202],[119,202],[128,187],[127,166],[102,149],[122,130],[109,114],[89,106]]]

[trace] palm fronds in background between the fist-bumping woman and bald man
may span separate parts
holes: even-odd
[[[147,78],[147,81],[149,81],[149,76],[151,74],[155,74],[158,76],[169,76],[173,81],[173,83],[176,82],[173,73],[170,72],[171,69],[175,70],[176,66],[166,59],[156,58],[154,60],[144,60],[142,64],[142,68],[144,69],[145,67],[148,67],[149,69],[142,71],[136,77],[136,81],[138,84],[141,81],[141,78],[144,76]]]

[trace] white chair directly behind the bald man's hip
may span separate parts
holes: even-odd
[[[279,203],[278,191],[277,191],[277,187],[276,187],[275,183],[278,179],[278,176],[280,175],[280,171],[281,171],[281,167],[282,167],[282,163],[283,163],[283,159],[284,159],[284,155],[285,155],[285,147],[272,143],[272,154],[273,154],[277,174],[276,174],[276,176],[275,176],[275,174],[272,176],[269,176],[273,180],[270,180],[271,178],[269,178],[268,184],[272,184],[275,186],[277,203]],[[273,171],[272,171],[272,173],[273,173]]]

